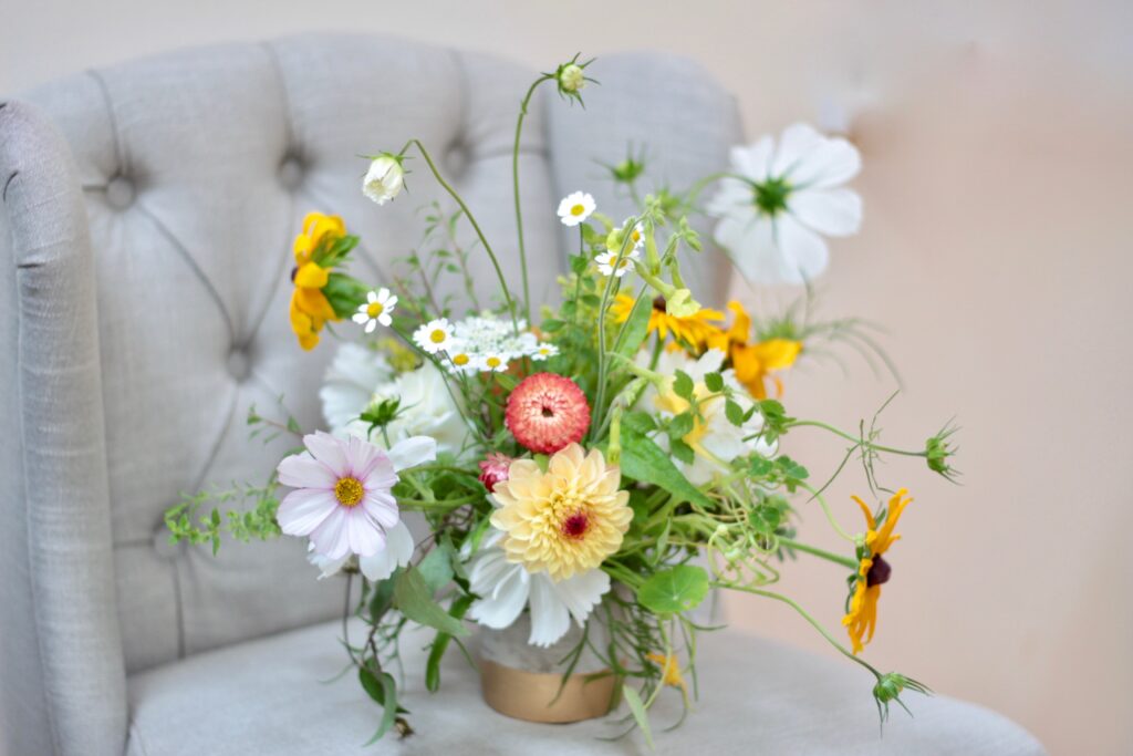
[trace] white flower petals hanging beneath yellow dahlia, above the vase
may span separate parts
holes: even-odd
[[[492,529],[480,551],[472,557],[469,581],[479,596],[468,617],[484,627],[502,630],[519,619],[525,606],[531,612],[528,643],[551,646],[566,635],[573,617],[579,627],[610,591],[610,576],[600,569],[579,572],[555,583],[546,571],[528,572],[508,561],[499,546],[503,533]]]

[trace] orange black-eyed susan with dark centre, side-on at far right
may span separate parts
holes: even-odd
[[[893,494],[880,527],[866,502],[858,496],[853,496],[853,500],[866,516],[868,526],[864,542],[858,549],[858,574],[853,583],[853,593],[850,595],[850,610],[842,618],[842,625],[845,626],[853,644],[853,653],[857,654],[872,640],[874,630],[877,629],[877,602],[881,597],[881,585],[889,580],[893,569],[883,554],[901,538],[893,528],[896,527],[905,507],[912,503],[912,499],[905,489]]]

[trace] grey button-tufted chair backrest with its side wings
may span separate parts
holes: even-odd
[[[629,212],[595,160],[645,145],[653,175],[680,185],[740,137],[732,99],[695,65],[625,54],[593,70],[603,86],[585,92],[586,112],[544,96],[525,130],[536,305],[577,244],[557,198],[586,188]],[[162,512],[185,492],[263,481],[293,445],[249,443],[252,405],[320,426],[334,345],[300,351],[287,320],[303,215],[343,215],[363,237],[358,271],[382,282],[420,244],[419,209],[451,206],[417,160],[408,194],[378,209],[358,155],[420,138],[518,282],[511,147],[531,76],[406,41],[307,35],[87,71],[0,109],[0,745],[120,751],[126,674],[341,610],[299,541],[214,558],[170,546]],[[719,294],[723,266],[704,270]],[[477,286],[495,289],[488,274]]]

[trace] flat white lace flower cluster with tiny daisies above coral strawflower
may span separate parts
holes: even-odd
[[[519,333],[510,320],[484,313],[455,323],[440,317],[414,332],[414,341],[431,355],[441,355],[449,371],[458,374],[502,372],[513,359],[540,362],[559,348],[539,339],[519,321]]]

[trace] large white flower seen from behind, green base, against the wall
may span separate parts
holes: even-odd
[[[861,169],[858,150],[806,124],[732,147],[736,178],[721,180],[707,205],[719,218],[715,239],[743,275],[758,283],[803,283],[829,257],[821,235],[851,236],[861,226],[861,197],[842,185]]]

